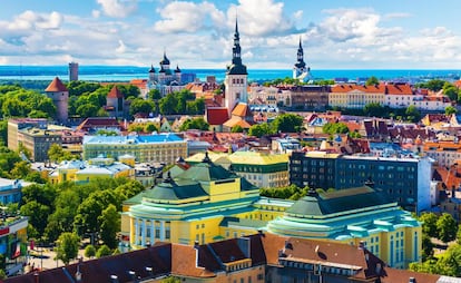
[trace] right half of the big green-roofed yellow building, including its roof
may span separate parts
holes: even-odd
[[[312,189],[284,216],[271,221],[267,230],[303,238],[362,243],[398,269],[421,261],[421,224],[383,193],[365,186],[325,194]]]

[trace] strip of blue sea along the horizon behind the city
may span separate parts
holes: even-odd
[[[79,80],[87,81],[129,81],[147,79],[148,67],[135,66],[80,66]],[[215,76],[224,81],[223,69],[183,69],[183,74],[195,74],[203,81],[207,76]],[[380,80],[418,82],[434,78],[458,80],[459,69],[320,69],[311,70],[314,79],[340,79],[342,81],[362,81],[371,76]],[[0,80],[52,80],[59,77],[68,80],[67,66],[0,66]],[[265,81],[292,77],[292,69],[248,69],[248,81]]]

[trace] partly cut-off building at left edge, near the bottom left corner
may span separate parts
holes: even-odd
[[[6,216],[0,219],[0,254],[6,258],[4,272],[12,276],[23,272],[27,263],[27,226],[22,216]]]

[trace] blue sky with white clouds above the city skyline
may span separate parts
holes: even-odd
[[[0,65],[461,69],[454,0],[1,0]]]

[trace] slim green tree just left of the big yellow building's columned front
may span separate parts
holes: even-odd
[[[110,248],[117,247],[117,232],[120,230],[120,215],[115,205],[109,206],[102,211],[98,221],[100,225],[100,237],[102,242]]]

